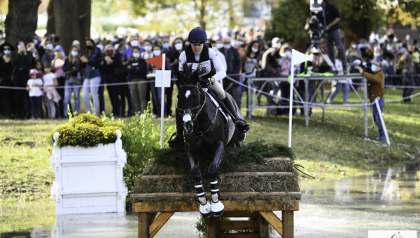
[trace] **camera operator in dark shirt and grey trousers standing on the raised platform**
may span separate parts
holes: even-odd
[[[327,32],[327,50],[328,56],[330,57],[332,64],[335,65],[335,51],[334,43],[338,49],[339,57],[342,60],[343,71],[347,73],[347,59],[344,52],[344,47],[342,43],[341,33],[339,31],[338,22],[340,20],[340,15],[337,6],[332,5],[328,0],[323,0],[323,17],[324,17],[324,26],[325,31]]]

